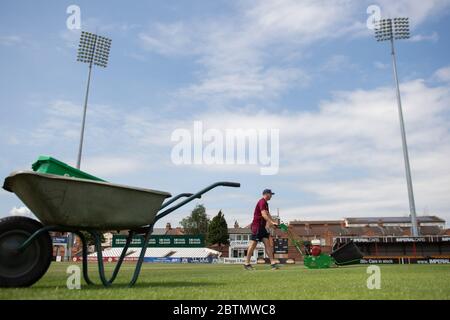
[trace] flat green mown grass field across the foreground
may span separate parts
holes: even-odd
[[[276,271],[258,265],[245,271],[240,265],[144,264],[137,284],[128,288],[134,264],[126,263],[111,288],[82,281],[80,290],[66,288],[68,266],[53,263],[34,286],[0,289],[0,299],[450,299],[449,265],[380,266],[381,288],[373,290],[363,265],[322,270],[289,265]],[[94,268],[90,264],[96,280]]]

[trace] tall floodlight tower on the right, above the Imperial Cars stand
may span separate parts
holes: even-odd
[[[417,237],[419,235],[419,228],[417,225],[416,205],[414,203],[411,168],[409,165],[408,145],[406,143],[405,124],[403,121],[402,100],[400,97],[400,87],[398,84],[397,62],[394,46],[394,40],[409,39],[409,19],[393,18],[393,19],[380,19],[376,21],[375,39],[377,41],[391,42],[392,67],[394,70],[394,80],[396,85],[398,115],[400,118],[400,132],[402,135],[403,157],[405,160],[406,183],[408,186],[409,211],[411,214],[411,225],[412,225],[411,230],[412,235]]]

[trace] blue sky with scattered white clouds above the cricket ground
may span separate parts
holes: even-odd
[[[1,1],[1,177],[39,155],[76,164],[88,67],[71,5],[81,30],[112,39],[108,67],[92,72],[82,170],[174,195],[241,183],[157,227],[199,203],[247,225],[265,188],[286,222],[408,216],[390,46],[367,20],[370,5],[409,17],[411,38],[395,45],[416,209],[449,225],[450,0]],[[174,132],[196,122],[276,130],[279,169],[175,163]],[[17,214],[31,213],[1,189],[0,217]]]

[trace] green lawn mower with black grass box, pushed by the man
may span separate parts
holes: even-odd
[[[361,251],[353,242],[346,243],[333,250],[330,254],[326,254],[322,252],[320,240],[298,241],[294,238],[294,235],[286,224],[280,224],[279,228],[287,233],[289,240],[303,256],[305,267],[309,269],[325,269],[333,266],[358,264],[363,257]],[[302,250],[302,246],[304,251]]]

